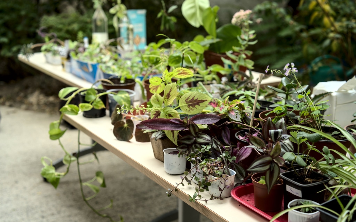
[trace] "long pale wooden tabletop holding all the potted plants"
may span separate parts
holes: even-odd
[[[88,83],[68,72],[62,70],[61,66],[54,66],[45,63],[43,55],[35,54],[30,60],[26,60],[19,56],[20,61],[52,76],[59,81],[67,83],[70,86],[77,87],[90,87]],[[79,115],[64,115],[64,120],[72,124],[78,130],[81,130],[93,140],[98,142],[101,146],[105,147],[108,151],[114,153],[116,156],[130,164],[132,167],[151,178],[157,184],[165,189],[173,189],[176,182],[181,181],[180,175],[169,175],[165,172],[163,163],[153,156],[151,144],[149,142],[141,143],[136,142],[135,137],[130,142],[119,141],[112,133],[114,128],[111,125],[108,116],[102,118],[89,119]],[[144,185],[143,185],[144,186]],[[203,201],[189,202],[189,196],[193,196],[195,185],[179,186],[177,192],[172,192],[180,200],[199,211],[210,220],[220,221],[267,221],[264,217],[252,212],[247,207],[234,200],[232,197],[225,198],[224,200],[211,200],[208,203]],[[201,193],[203,199],[209,199],[208,193]],[[169,197],[167,197],[169,198]]]

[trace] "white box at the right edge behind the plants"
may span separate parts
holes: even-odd
[[[313,94],[332,92],[322,100],[329,100],[330,107],[325,111],[325,119],[335,120],[341,127],[351,124],[354,119],[352,114],[356,112],[356,77],[349,81],[319,82],[313,89]]]

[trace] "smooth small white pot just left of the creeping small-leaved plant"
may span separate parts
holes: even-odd
[[[178,154],[169,154],[178,150],[176,148],[167,148],[163,150],[164,153],[164,170],[171,175],[182,174],[185,171],[185,166],[187,160],[185,157],[187,155],[183,154],[178,156]]]

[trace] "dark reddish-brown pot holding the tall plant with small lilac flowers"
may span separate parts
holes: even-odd
[[[329,126],[324,126],[324,131],[325,132],[333,132],[335,131],[334,127],[329,127]],[[347,139],[345,140],[338,140],[342,145],[346,146],[346,147],[350,147],[351,145],[351,142]],[[310,144],[312,144],[312,142],[309,142]],[[339,145],[335,144],[333,141],[330,141],[330,140],[319,140],[318,142],[315,142],[314,143],[314,146],[317,150],[319,150],[320,152],[323,152],[323,147],[326,146],[329,148],[329,150],[333,149],[333,150],[336,150],[336,151],[339,151],[340,153],[342,154],[345,154],[346,155],[346,151],[343,150]],[[307,149],[307,146],[303,143],[302,147],[300,147],[300,152],[303,152],[304,150]],[[339,155],[337,155],[335,152],[331,151],[331,154],[334,155],[335,158],[341,158]],[[316,152],[316,151],[310,151],[309,153],[310,156],[316,158],[316,159],[321,159],[323,158],[323,156]]]

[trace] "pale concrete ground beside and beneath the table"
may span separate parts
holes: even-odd
[[[0,221],[1,222],[107,222],[85,205],[80,195],[77,164],[62,178],[57,189],[43,182],[40,175],[41,157],[53,160],[64,153],[57,141],[48,136],[48,126],[59,115],[0,106]],[[70,152],[77,150],[77,130],[67,130],[61,140]],[[81,134],[82,143],[90,138]],[[82,165],[83,181],[103,171],[107,188],[101,188],[90,200],[99,209],[114,200],[112,209],[102,211],[126,222],[151,221],[177,207],[175,196],[167,197],[165,190],[150,178],[108,151],[98,152],[97,162]],[[81,157],[89,160],[93,155]],[[63,172],[64,168],[58,169]],[[85,189],[88,197],[93,193]],[[201,215],[201,222],[210,220]]]

